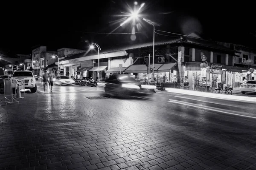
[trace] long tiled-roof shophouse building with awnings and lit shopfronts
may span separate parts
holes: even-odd
[[[71,67],[75,75],[81,77],[96,78],[98,70],[100,77],[108,77],[109,74],[123,73],[132,74],[137,80],[148,79],[146,60],[151,56],[150,67],[153,70],[152,42],[127,45],[122,47],[103,50],[98,56],[90,53],[75,54],[60,60],[60,65]],[[206,82],[206,69],[202,69],[201,56],[207,57],[210,73],[208,81],[213,79],[218,82],[225,82],[226,77],[222,76],[222,67],[233,66],[233,56],[236,51],[218,45],[215,42],[201,39],[197,34],[192,33],[188,37],[176,37],[171,40],[155,42],[154,53],[154,78],[158,82],[179,82],[189,83],[188,89],[195,90],[196,84]],[[100,62],[98,64],[98,57]],[[151,71],[152,72],[152,71]],[[152,74],[149,76],[152,77]],[[152,77],[153,78],[153,77]]]

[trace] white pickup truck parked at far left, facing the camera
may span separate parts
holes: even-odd
[[[12,74],[12,90],[15,91],[15,86],[20,85],[20,88],[25,86],[25,89],[30,89],[32,93],[37,90],[35,77],[32,71],[15,71]]]

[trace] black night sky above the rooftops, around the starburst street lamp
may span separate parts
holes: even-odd
[[[53,1],[52,1],[53,2]],[[131,34],[92,34],[109,33],[117,28],[122,17],[114,15],[134,8],[134,1],[105,0],[88,3],[20,3],[4,4],[1,9],[0,54],[13,56],[15,53],[30,54],[33,48],[47,45],[47,50],[58,48],[87,49],[90,42],[98,43],[102,50],[125,43],[145,42],[152,39],[152,26],[139,20],[141,32],[136,40]],[[80,1],[79,1],[80,2]],[[86,2],[86,3],[85,3]],[[167,0],[138,0],[143,7],[143,17],[160,26],[156,29],[188,34],[198,31],[205,38],[254,46],[256,28],[253,6],[240,3],[173,3]],[[190,2],[190,1],[188,1]],[[209,2],[209,1],[205,1]],[[113,33],[131,33],[132,22],[117,28]],[[174,36],[173,34],[167,34]],[[166,37],[156,35],[156,40]]]

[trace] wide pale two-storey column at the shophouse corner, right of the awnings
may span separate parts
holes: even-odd
[[[178,71],[177,71],[177,86],[178,88],[183,88],[184,85],[184,67],[181,63],[184,62],[184,47],[178,47]]]

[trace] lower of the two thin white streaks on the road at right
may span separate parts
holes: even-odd
[[[188,105],[188,106],[191,106],[191,107],[205,109],[205,110],[214,111],[214,112],[220,112],[220,113],[225,113],[225,114],[231,114],[231,115],[256,119],[256,117],[253,117],[253,116],[246,116],[246,115],[241,115],[241,114],[236,114],[236,113],[230,113],[230,112],[227,112],[227,111],[221,111],[221,110],[224,110],[224,109],[219,110],[217,108],[212,108],[212,107],[209,107],[209,106],[199,106],[199,105],[191,104],[189,102],[182,102],[182,101],[177,101],[177,100],[172,100],[172,99],[169,99],[169,102],[177,103],[177,104],[181,104],[181,105]]]

